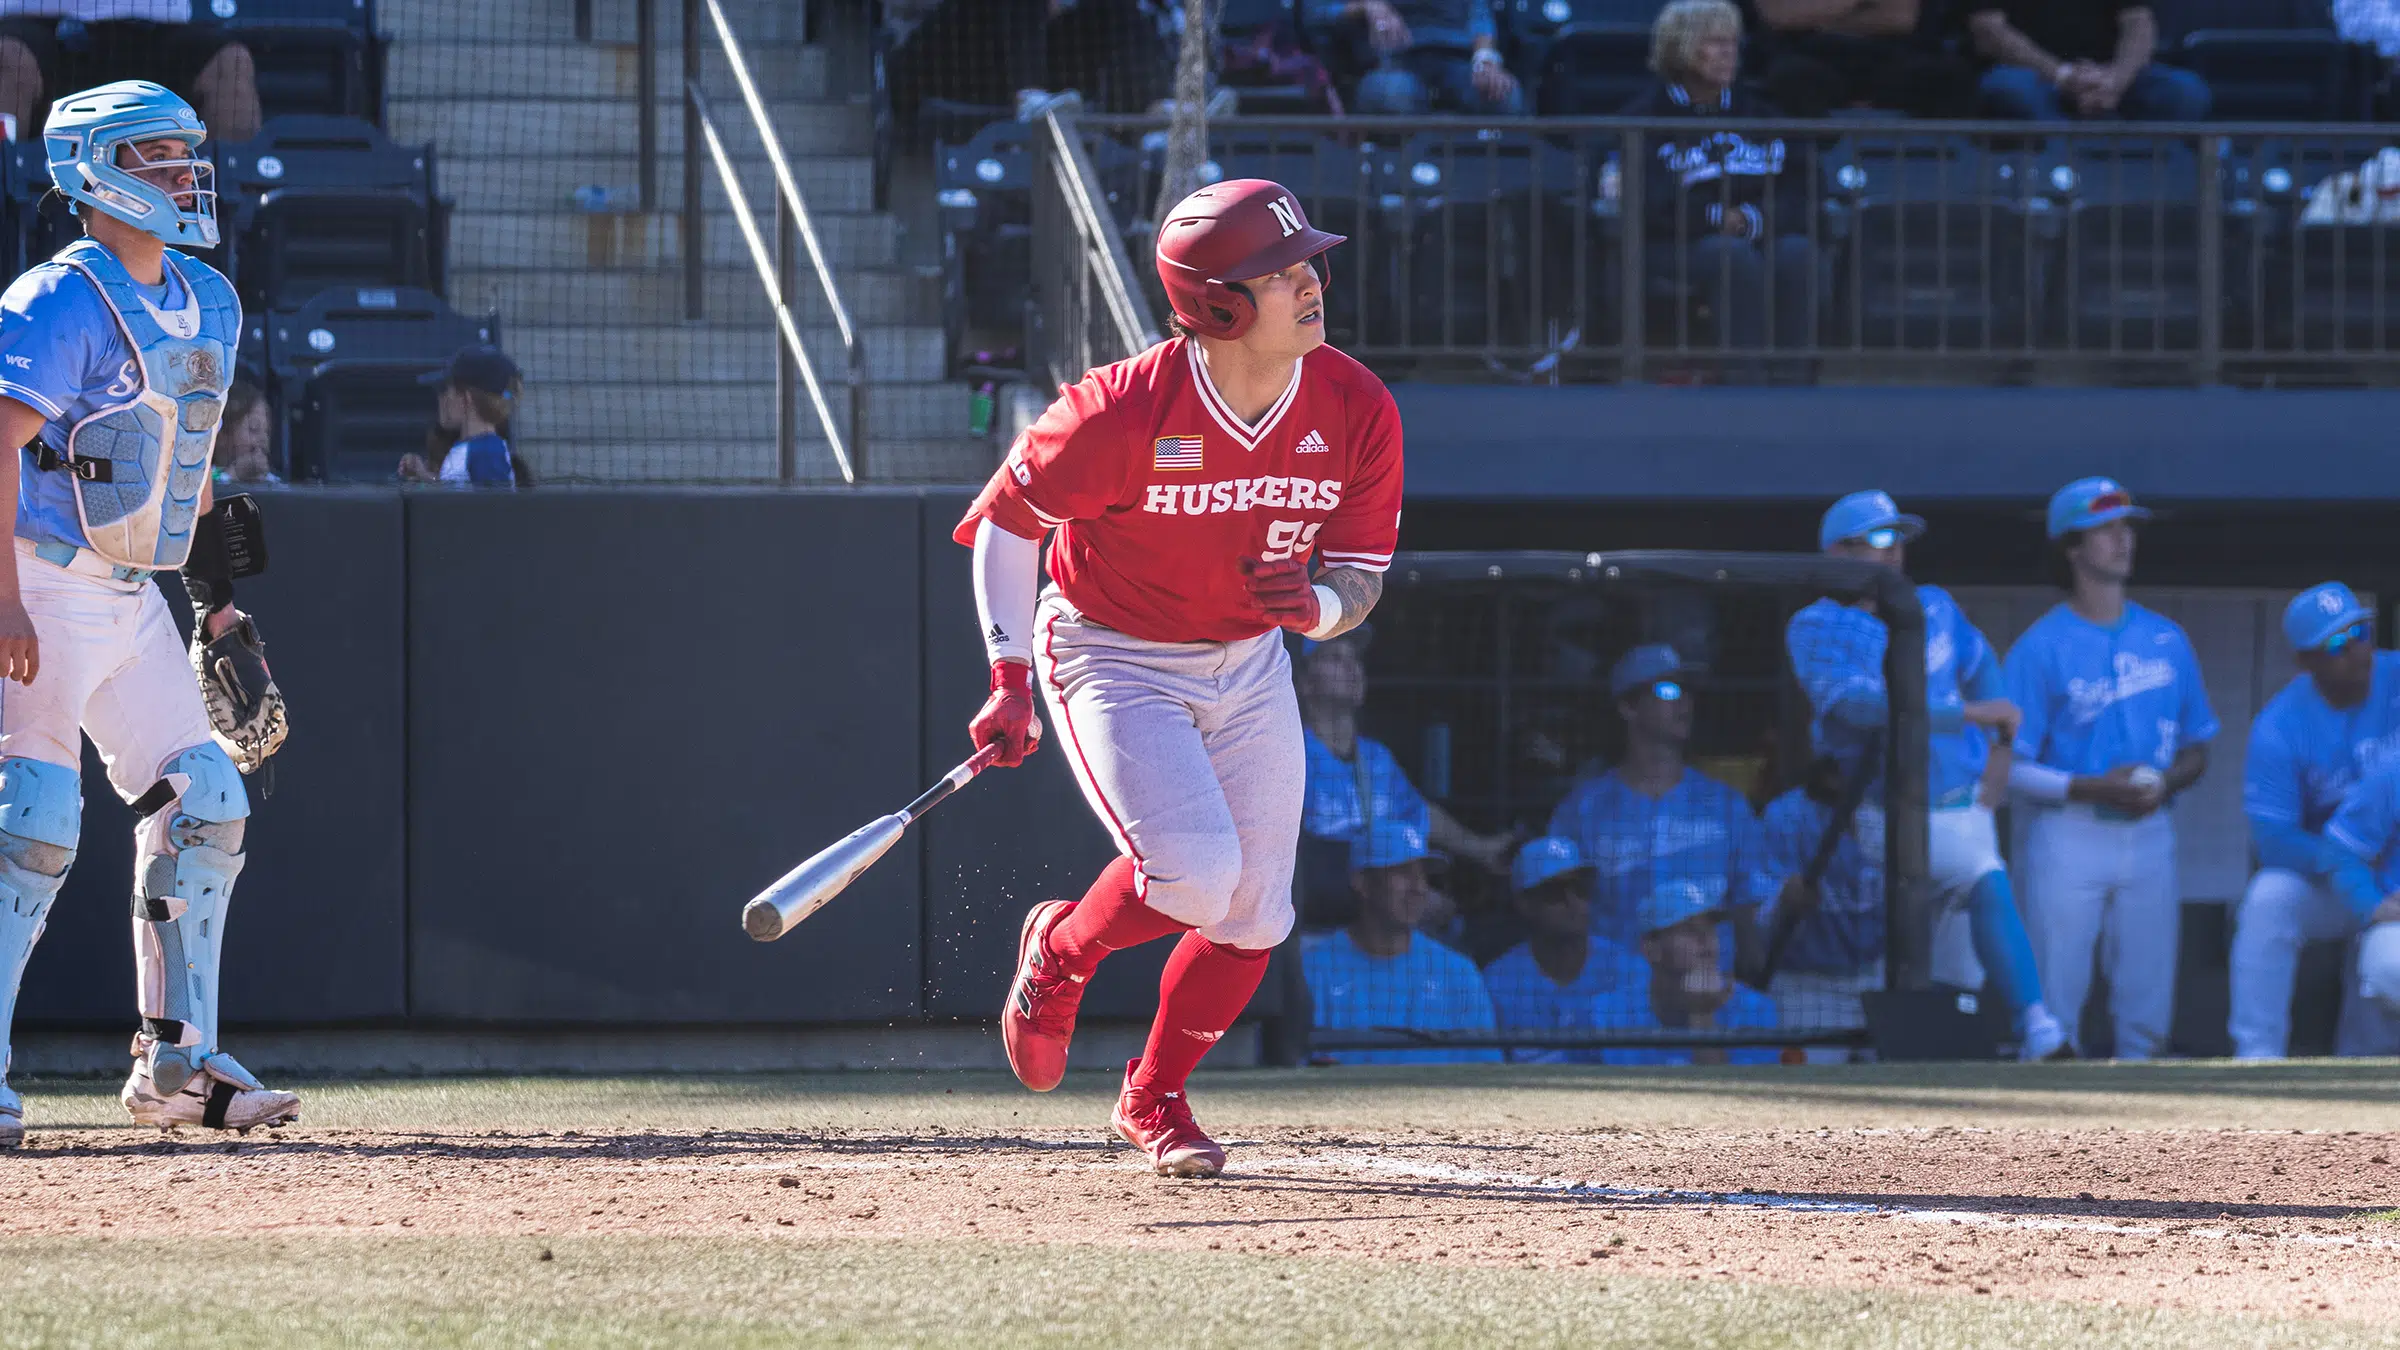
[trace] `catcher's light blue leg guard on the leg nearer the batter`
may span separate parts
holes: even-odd
[[[173,1093],[218,1052],[216,973],[250,793],[216,745],[175,754],[158,783],[137,802],[151,810],[134,826],[137,1047],[158,1091]]]

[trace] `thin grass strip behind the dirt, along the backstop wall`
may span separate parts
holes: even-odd
[[[1027,1093],[989,1071],[293,1083],[307,1129],[1092,1131],[1111,1074]],[[19,1079],[31,1129],[122,1127],[115,1083]],[[1860,1064],[1759,1069],[1236,1069],[1193,1100],[1226,1129],[2395,1129],[2400,1064]]]

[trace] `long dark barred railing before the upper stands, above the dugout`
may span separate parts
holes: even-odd
[[[1082,118],[1118,202],[1164,123]],[[1661,199],[1690,118],[1222,118],[1334,255],[1327,336],[1493,380],[2383,384],[2400,377],[2400,137],[2374,125],[1709,120],[1776,190]],[[2390,151],[2390,154],[2386,154]],[[1709,209],[1759,211],[1750,250]],[[1140,228],[1140,221],[1121,221]],[[1793,276],[1793,271],[1800,271]],[[1740,310],[1740,312],[1735,312]]]

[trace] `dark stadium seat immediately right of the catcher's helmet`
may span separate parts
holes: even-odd
[[[218,149],[242,303],[290,310],[329,286],[444,283],[432,147],[358,118],[274,118]]]

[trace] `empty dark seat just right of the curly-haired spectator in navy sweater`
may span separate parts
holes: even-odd
[[[1990,351],[2033,331],[2050,207],[2033,154],[1963,137],[1841,142],[1822,161],[1834,204],[1826,331],[1865,348]]]

